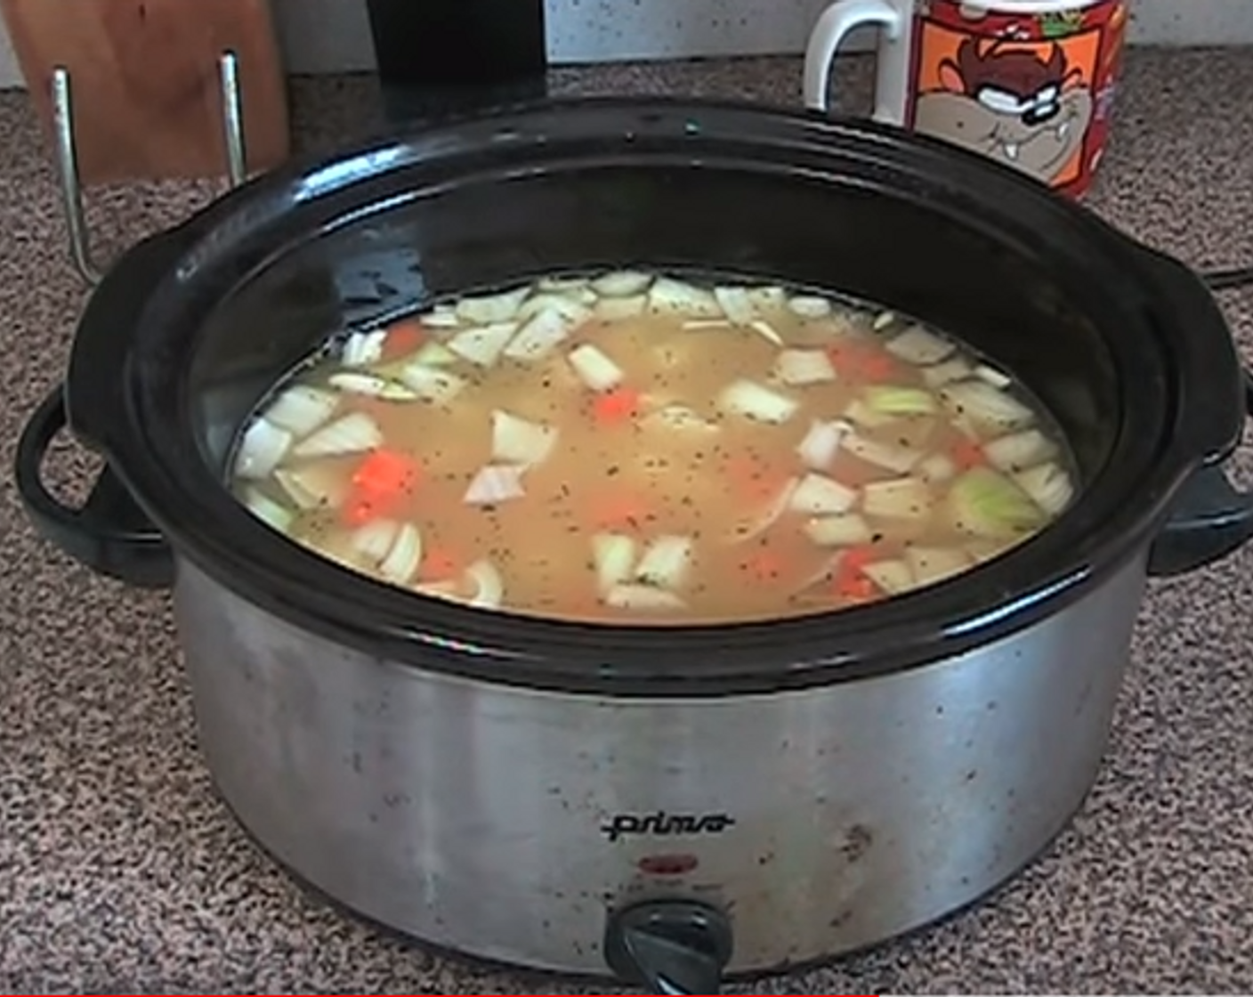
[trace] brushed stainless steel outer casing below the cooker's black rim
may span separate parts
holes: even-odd
[[[580,973],[604,972],[610,912],[690,899],[725,915],[737,972],[925,924],[1036,855],[1100,764],[1143,584],[1136,559],[898,675],[625,701],[424,675],[189,564],[174,599],[222,795],[323,892],[442,947]],[[677,917],[660,931],[682,934]],[[679,992],[709,992],[708,972]]]

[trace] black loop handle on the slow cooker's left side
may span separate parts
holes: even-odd
[[[100,574],[140,588],[169,586],[174,579],[169,544],[108,464],[80,508],[63,505],[48,490],[43,479],[44,456],[66,421],[61,384],[35,409],[18,441],[18,494],[35,529]]]

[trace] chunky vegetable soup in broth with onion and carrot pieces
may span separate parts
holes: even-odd
[[[1074,495],[1042,406],[905,316],[551,277],[338,336],[237,441],[272,528],[377,579],[614,623],[827,612],[966,571]]]

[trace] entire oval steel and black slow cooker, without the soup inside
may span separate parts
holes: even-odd
[[[836,287],[967,339],[1053,409],[1080,502],[1010,554],[855,612],[665,631],[370,582],[223,487],[330,330],[553,270]],[[173,584],[200,745],[284,865],[387,926],[664,992],[885,939],[976,899],[1078,808],[1146,571],[1242,543],[1243,419],[1178,263],[985,159],[868,123],[545,103],[301,162],[135,247],[19,446],[46,535]],[[83,510],[56,429],[107,458]]]

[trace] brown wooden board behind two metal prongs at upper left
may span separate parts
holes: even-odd
[[[70,73],[83,183],[227,172],[218,58],[238,56],[249,172],[289,150],[268,0],[0,0],[51,142],[51,76]]]

